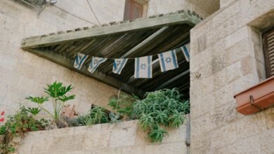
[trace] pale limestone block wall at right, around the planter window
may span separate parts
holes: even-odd
[[[274,1],[221,2],[190,34],[191,153],[274,153],[274,108],[243,116],[233,98],[266,78],[261,31]]]

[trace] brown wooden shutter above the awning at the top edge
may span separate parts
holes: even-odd
[[[126,0],[124,5],[124,20],[135,20],[143,15],[143,6],[134,0]]]

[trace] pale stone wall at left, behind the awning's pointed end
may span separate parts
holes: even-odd
[[[101,22],[122,20],[123,1],[90,3]],[[107,106],[108,98],[116,93],[112,87],[20,49],[22,38],[93,23],[96,19],[86,1],[58,0],[56,6],[47,6],[38,15],[37,10],[17,1],[0,0],[0,111],[8,115],[20,103],[31,105],[25,97],[44,94],[46,84],[54,80],[73,85],[77,97],[70,103],[77,104],[79,111],[89,110],[91,104]]]

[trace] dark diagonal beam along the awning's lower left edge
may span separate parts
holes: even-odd
[[[27,49],[27,51],[32,52],[35,55],[39,55],[40,57],[44,57],[50,60],[51,62],[56,62],[57,64],[67,67],[68,69],[72,69],[73,71],[77,71],[78,73],[84,74],[85,76],[89,76],[90,78],[99,80],[100,82],[103,82],[107,85],[110,85],[117,89],[121,89],[124,92],[136,94],[138,95],[138,97],[143,97],[143,94],[145,94],[145,92],[143,92],[142,90],[138,90],[136,87],[133,87],[129,84],[122,83],[116,78],[107,76],[105,73],[101,73],[99,71],[90,73],[89,71],[87,71],[88,67],[85,65],[82,66],[81,70],[75,69],[73,66],[73,63],[74,63],[73,59],[60,55],[51,50]]]

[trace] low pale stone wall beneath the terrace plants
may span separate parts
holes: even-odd
[[[30,132],[20,154],[178,154],[186,153],[185,125],[169,131],[162,144],[150,144],[137,121]]]

